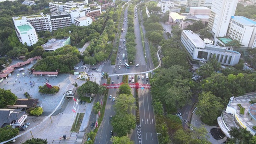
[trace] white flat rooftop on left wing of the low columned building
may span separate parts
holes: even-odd
[[[191,42],[198,48],[205,48],[205,42],[192,31],[183,30],[184,34],[191,40]]]

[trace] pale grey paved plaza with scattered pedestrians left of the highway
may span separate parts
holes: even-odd
[[[15,64],[20,61],[21,60],[13,60],[12,64]],[[24,66],[24,69],[27,70],[31,68],[32,65],[35,64],[35,62],[27,66]],[[77,66],[80,66],[80,65],[82,65],[82,63],[79,63]],[[102,65],[98,66],[99,69],[102,69],[102,67],[103,67]],[[101,73],[92,72],[91,70],[89,70],[89,67],[87,70],[85,70],[85,72],[88,72],[89,75],[92,75],[92,74],[101,75]],[[22,73],[25,73],[25,76],[22,76]],[[20,75],[17,77],[17,74],[20,74]],[[40,85],[42,86],[46,82],[45,78],[47,76],[29,75],[27,77],[27,75],[28,75],[27,71],[19,72],[18,70],[15,70],[15,72],[12,73],[11,77],[9,77],[7,80],[4,80],[4,82],[0,84],[1,88],[11,89],[12,93],[14,93],[18,98],[26,98],[24,96],[24,92],[28,92],[32,96],[32,98],[39,99],[38,105],[41,105],[41,104],[43,105],[44,112],[41,116],[39,117],[28,116],[28,118],[26,119],[26,122],[29,122],[31,124],[26,131],[29,131],[30,128],[37,126],[40,121],[45,119],[57,107],[57,105],[60,103],[60,100],[68,84],[76,82],[78,86],[81,86],[82,84],[85,83],[85,81],[76,80],[77,79],[76,75],[59,74],[57,77],[55,76],[49,77],[50,78],[49,84],[53,86],[55,85],[59,86],[60,91],[53,96],[41,95],[38,93],[38,87]],[[100,78],[91,77],[91,81],[96,81],[98,84],[100,84],[100,80],[101,80]],[[14,81],[16,82],[13,83]],[[35,82],[34,87],[31,87],[29,85],[30,81]],[[44,121],[41,125],[38,125],[35,129],[31,130],[31,132],[27,132],[24,135],[17,138],[14,144],[24,143],[27,139],[31,139],[32,137],[47,139],[48,143],[51,143],[51,144],[69,144],[69,143],[74,144],[78,133],[70,132],[73,125],[73,121],[74,121],[73,114],[72,114],[73,106],[74,106],[74,101],[72,98],[64,99],[63,102],[61,102],[61,106],[56,110],[56,112],[49,119]],[[85,103],[85,105],[79,105],[80,113],[85,113],[85,116],[81,123],[80,131],[84,131],[85,128],[87,127],[90,119],[92,107],[93,107],[93,102]],[[19,134],[26,131],[20,131]],[[69,140],[61,140],[60,138],[63,136],[63,134],[66,134]]]

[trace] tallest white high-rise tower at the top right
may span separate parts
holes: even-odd
[[[212,0],[208,27],[212,39],[227,35],[231,16],[234,16],[238,0]]]

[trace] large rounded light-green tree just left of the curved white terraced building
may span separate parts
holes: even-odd
[[[199,94],[198,99],[196,114],[201,116],[204,121],[213,122],[216,120],[224,108],[221,103],[222,99],[211,92]]]

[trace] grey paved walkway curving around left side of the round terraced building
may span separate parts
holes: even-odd
[[[193,110],[194,110],[194,108],[193,108]],[[196,110],[195,110],[195,111],[196,111]],[[207,129],[207,131],[208,131],[208,135],[209,135],[208,141],[210,141],[212,144],[222,144],[222,143],[224,143],[224,142],[227,140],[227,137],[224,137],[223,139],[218,140],[218,141],[215,140],[215,139],[212,137],[210,131],[211,131],[212,128],[219,128],[219,127],[217,127],[217,126],[209,126],[209,125],[203,123],[203,122],[200,120],[200,118],[195,114],[195,112],[194,112],[194,114],[192,115],[192,119],[191,119],[191,123],[190,123],[190,124],[191,124],[192,126],[194,126],[194,127],[197,127],[197,128],[199,128],[201,125],[203,125],[203,126]],[[220,129],[220,128],[219,128],[219,129]]]

